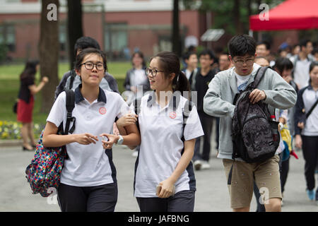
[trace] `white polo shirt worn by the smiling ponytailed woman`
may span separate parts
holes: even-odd
[[[173,109],[173,100],[176,109]],[[196,107],[187,119],[183,128],[182,110],[187,99],[179,95],[171,98],[170,103],[161,108],[155,101],[155,93],[141,98],[139,127],[141,147],[136,160],[134,196],[157,197],[156,186],[171,176],[182,156],[184,141],[204,135]],[[131,107],[133,109],[134,107]],[[184,190],[195,191],[196,181],[192,162],[181,174],[177,182],[176,193]]]

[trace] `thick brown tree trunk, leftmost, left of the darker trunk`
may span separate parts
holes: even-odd
[[[48,6],[55,6],[47,9]],[[40,20],[40,74],[49,78],[49,83],[42,90],[41,112],[48,113],[54,101],[54,91],[59,82],[59,0],[42,0],[42,12]],[[55,12],[55,18],[52,16]]]

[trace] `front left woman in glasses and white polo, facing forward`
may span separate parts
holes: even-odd
[[[112,144],[139,145],[139,131],[136,125],[129,125],[125,127],[127,136],[107,134],[115,117],[124,116],[128,106],[119,94],[99,87],[107,70],[102,51],[83,49],[76,57],[75,70],[82,81],[74,91],[75,130],[69,135],[57,135],[58,126],[63,121],[65,128],[66,121],[66,93],[63,92],[54,102],[43,134],[45,146],[66,145],[69,155],[57,191],[59,206],[61,211],[114,211],[117,179]],[[98,136],[107,136],[108,141],[101,141]]]

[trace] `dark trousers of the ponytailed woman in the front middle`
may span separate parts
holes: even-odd
[[[169,198],[136,198],[141,212],[193,212],[195,191],[179,191]]]

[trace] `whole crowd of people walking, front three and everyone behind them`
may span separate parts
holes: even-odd
[[[232,180],[228,189],[233,211],[249,211],[253,191],[257,211],[281,211],[289,159],[297,157],[294,146],[302,149],[305,158],[307,196],[318,204],[318,189],[314,190],[318,51],[310,40],[300,41],[293,51],[288,48],[282,47],[279,57],[273,59],[268,42],[237,35],[228,43],[228,52],[216,55],[212,49],[204,49],[197,53],[191,47],[182,64],[176,54],[160,52],[151,57],[148,66],[143,53],[134,52],[124,81],[124,89],[132,95],[125,102],[117,81],[107,72],[107,59],[98,42],[79,38],[74,47],[74,69],[66,72],[57,86],[43,134],[45,146],[66,145],[69,155],[58,189],[61,210],[114,211],[117,176],[112,146],[117,144],[134,150],[133,189],[141,211],[193,211],[194,170],[211,168],[212,133],[216,133],[218,158],[223,160],[227,179]],[[24,150],[33,150],[35,145],[30,135],[33,95],[48,82],[43,77],[40,85],[34,85],[37,65],[28,62],[21,73],[18,121],[24,126]],[[265,66],[269,69],[249,100],[253,105],[264,102],[269,106],[279,122],[281,143],[275,155],[248,163],[232,152],[233,102]],[[66,121],[64,90],[70,89],[75,92],[75,130],[57,135],[59,125]],[[261,201],[259,190],[265,184],[269,196]]]

